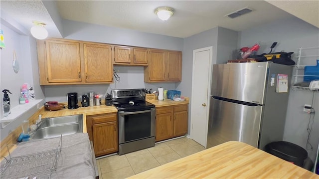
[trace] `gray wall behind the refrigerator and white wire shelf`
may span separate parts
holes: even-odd
[[[309,23],[300,20],[297,17],[274,21],[269,24],[257,26],[240,32],[238,48],[243,46],[252,46],[256,42],[261,44],[258,54],[268,53],[273,42],[278,42],[273,52],[286,51],[294,52],[293,60],[297,61],[299,47],[319,46],[319,29]],[[319,55],[319,49],[304,50],[302,55]],[[316,57],[304,58],[301,64],[315,65]],[[293,74],[295,74],[293,72]],[[303,75],[303,71],[300,73]],[[294,79],[292,79],[294,80]],[[299,81],[302,81],[300,79]],[[306,148],[308,138],[307,125],[310,115],[303,112],[304,104],[311,104],[314,95],[313,107],[316,110],[313,129],[311,132],[310,143],[313,150],[307,150],[309,156],[314,161],[319,143],[319,93],[310,91],[290,90],[286,125],[284,131],[284,141],[292,142],[303,148]]]

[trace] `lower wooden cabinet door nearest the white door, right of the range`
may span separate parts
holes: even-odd
[[[174,112],[174,136],[182,136],[187,133],[188,111]]]

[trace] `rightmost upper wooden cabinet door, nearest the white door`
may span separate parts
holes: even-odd
[[[167,80],[181,81],[181,52],[167,52]]]

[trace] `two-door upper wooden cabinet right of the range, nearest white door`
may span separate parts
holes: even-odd
[[[181,81],[181,51],[150,50],[149,66],[144,68],[145,82]]]

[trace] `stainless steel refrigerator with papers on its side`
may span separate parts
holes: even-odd
[[[241,141],[264,150],[283,140],[292,66],[213,65],[207,148]]]

